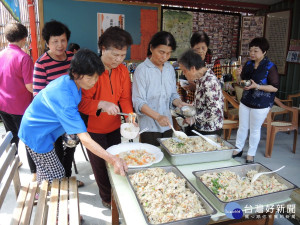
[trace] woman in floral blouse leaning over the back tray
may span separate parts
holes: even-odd
[[[178,62],[187,80],[196,84],[194,106],[197,114],[186,122],[201,134],[221,135],[224,100],[217,77],[192,49],[183,53]]]

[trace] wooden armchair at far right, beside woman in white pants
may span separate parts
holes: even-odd
[[[275,98],[275,103],[287,110],[288,113],[292,114],[290,121],[274,121],[272,119],[272,111],[268,113],[267,119],[263,124],[264,127],[267,127],[267,140],[266,140],[266,151],[265,157],[271,158],[275,136],[279,131],[292,131],[294,130],[294,143],[293,143],[293,153],[296,153],[296,144],[297,144],[297,135],[298,135],[298,110],[284,105],[279,98]]]

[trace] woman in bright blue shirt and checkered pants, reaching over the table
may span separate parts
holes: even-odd
[[[72,59],[69,75],[52,81],[34,98],[23,116],[19,137],[37,166],[37,181],[60,179],[65,170],[60,163],[54,143],[63,133],[77,134],[82,144],[95,155],[125,175],[123,160],[106,152],[93,141],[78,112],[81,89],[90,89],[104,72],[98,56],[90,50],[80,50]],[[104,109],[109,113],[109,109]]]

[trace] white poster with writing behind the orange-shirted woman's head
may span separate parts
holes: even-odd
[[[115,26],[125,29],[124,14],[97,13],[97,42],[107,28]]]

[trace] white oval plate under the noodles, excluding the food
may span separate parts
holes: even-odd
[[[117,155],[121,152],[127,152],[129,150],[146,150],[147,152],[153,154],[155,156],[155,160],[151,163],[141,165],[141,166],[129,166],[128,168],[140,168],[140,167],[147,167],[151,166],[154,163],[160,162],[164,158],[164,154],[160,150],[160,148],[150,145],[150,144],[144,144],[144,143],[121,143],[118,145],[113,145],[106,149],[107,152],[109,152],[112,155]]]

